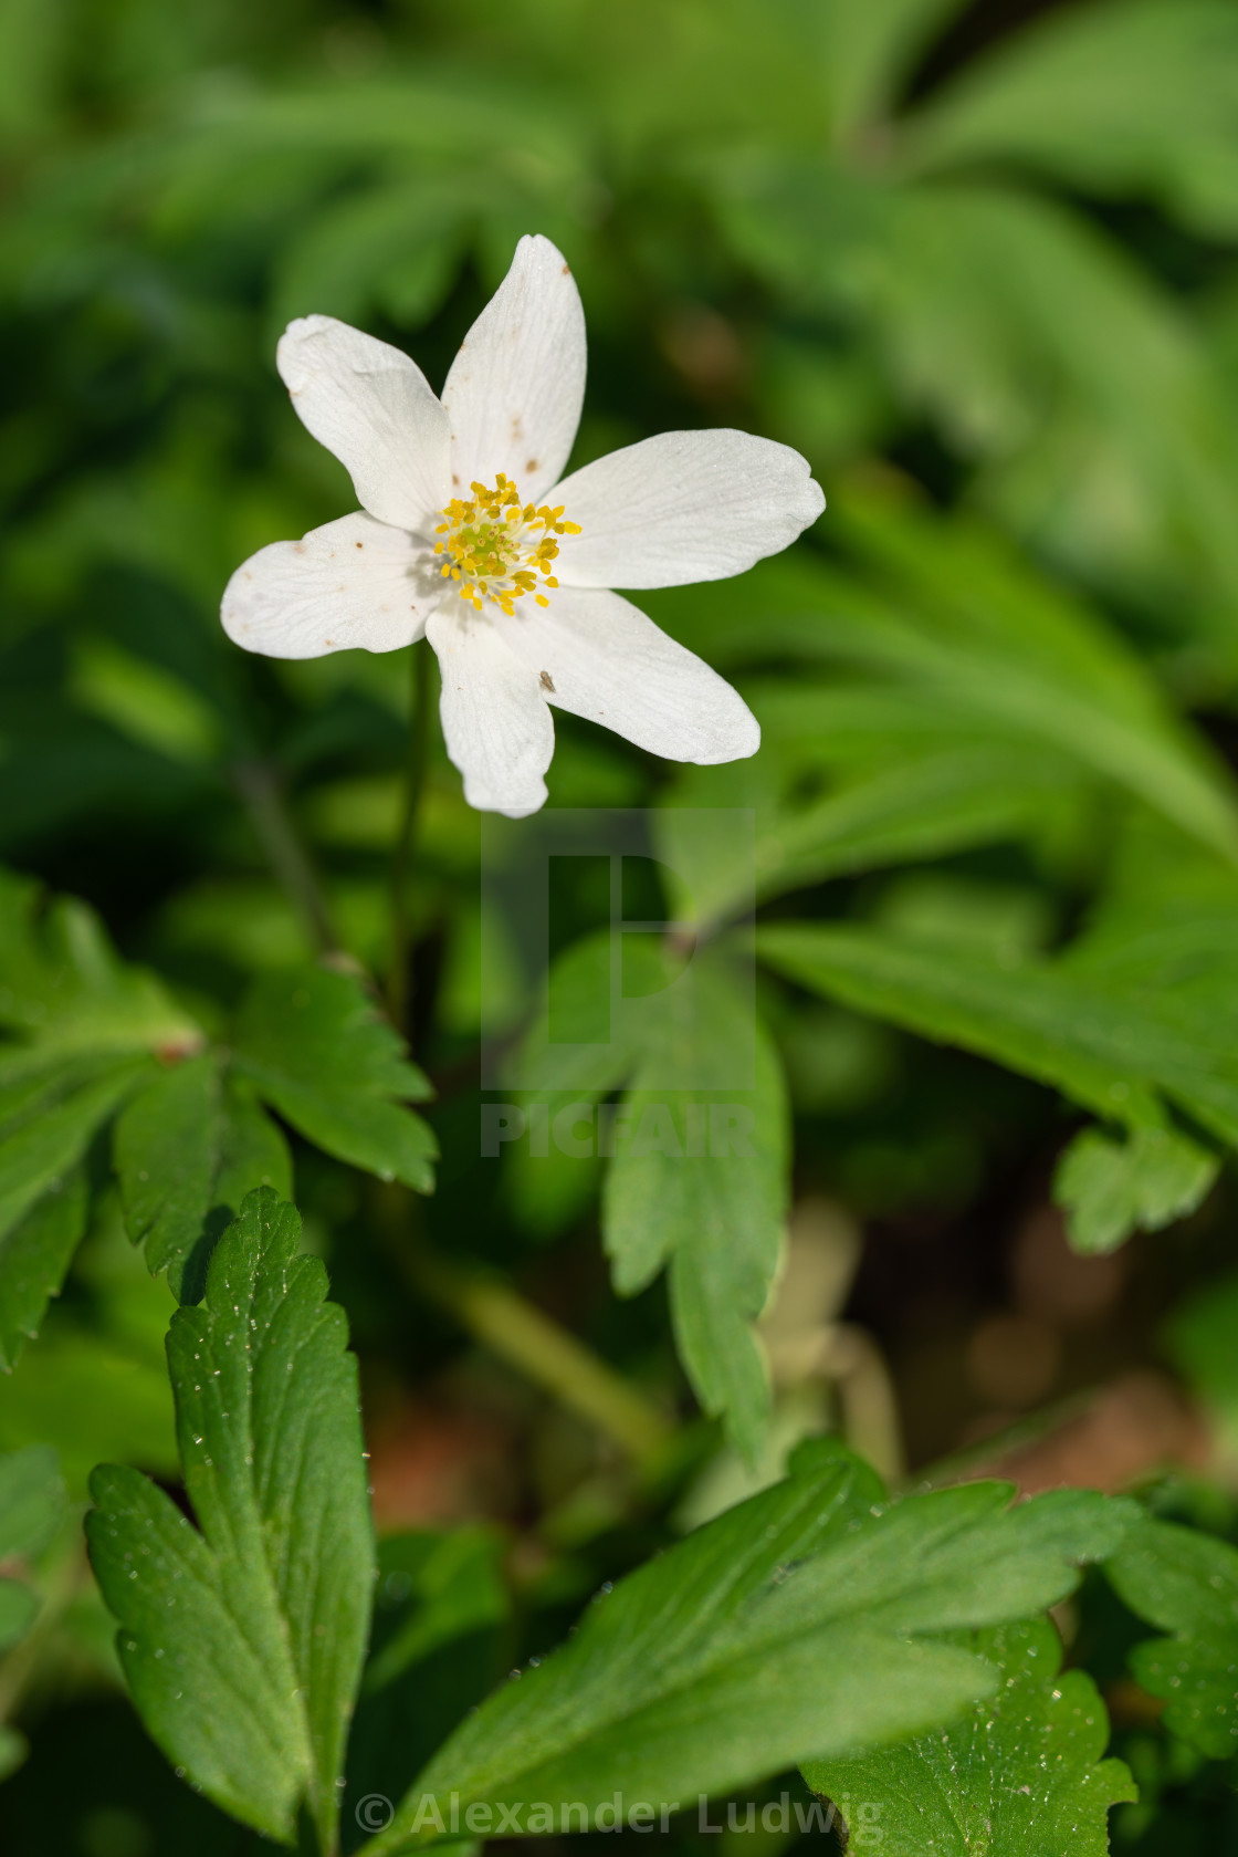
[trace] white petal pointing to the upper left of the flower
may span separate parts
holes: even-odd
[[[449,498],[447,414],[401,349],[334,316],[303,316],[275,355],[301,422],[379,522],[419,529]]]

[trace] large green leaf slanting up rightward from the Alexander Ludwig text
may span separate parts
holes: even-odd
[[[948,1720],[995,1675],[924,1634],[1056,1603],[1134,1513],[1082,1491],[1008,1508],[997,1484],[878,1497],[841,1447],[802,1448],[785,1482],[603,1591],[457,1729],[368,1853],[418,1842],[451,1792],[470,1831],[471,1803],[557,1816],[624,1790],[657,1809]]]

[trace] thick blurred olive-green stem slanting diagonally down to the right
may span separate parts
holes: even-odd
[[[447,1263],[408,1233],[390,1227],[390,1246],[410,1289],[438,1304],[475,1341],[562,1406],[587,1419],[642,1467],[651,1467],[672,1428],[613,1367],[575,1335],[525,1302],[510,1283],[473,1265]]]

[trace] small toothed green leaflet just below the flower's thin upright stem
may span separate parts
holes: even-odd
[[[434,1190],[434,1136],[399,1107],[429,1084],[351,975],[264,975],[241,1006],[234,1057],[299,1135],[380,1179]]]

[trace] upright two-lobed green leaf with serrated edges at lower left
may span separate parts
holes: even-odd
[[[91,1562],[137,1710],[217,1805],[286,1844],[304,1801],[334,1848],[373,1536],[342,1311],[301,1222],[249,1194],[173,1317],[167,1357],[199,1528],[135,1471],[91,1480]],[[199,1532],[200,1530],[200,1532]]]

